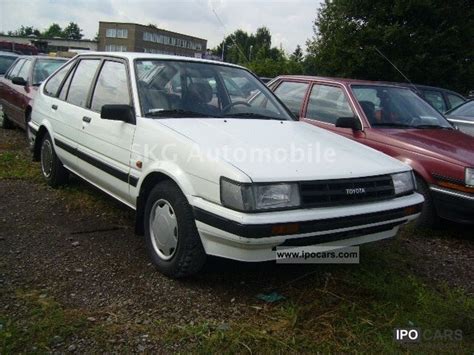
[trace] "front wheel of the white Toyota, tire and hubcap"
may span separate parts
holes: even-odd
[[[186,197],[171,181],[157,184],[145,206],[146,247],[156,268],[172,278],[201,270],[206,253]]]

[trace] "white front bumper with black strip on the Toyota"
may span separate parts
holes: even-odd
[[[338,249],[390,238],[418,217],[422,203],[414,193],[357,206],[245,214],[200,198],[192,201],[206,253],[241,261],[274,260],[278,246]]]

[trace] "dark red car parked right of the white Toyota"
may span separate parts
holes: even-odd
[[[410,165],[425,197],[420,226],[474,223],[474,137],[412,90],[380,82],[281,76],[268,86],[301,121]]]

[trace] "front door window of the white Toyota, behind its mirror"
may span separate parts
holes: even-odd
[[[97,79],[91,109],[100,112],[102,106],[108,104],[130,104],[127,71],[123,63],[106,61]]]

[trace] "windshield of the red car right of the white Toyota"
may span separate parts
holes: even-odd
[[[372,127],[452,129],[443,115],[410,89],[353,85],[352,91]]]

